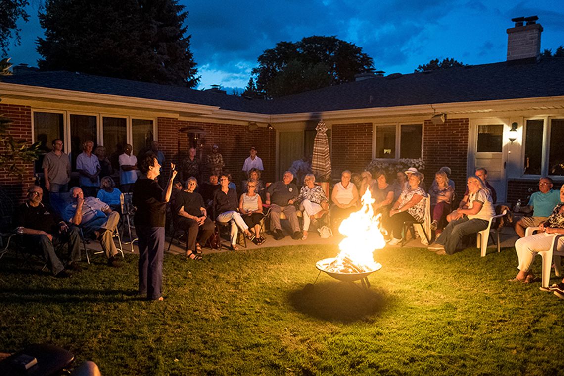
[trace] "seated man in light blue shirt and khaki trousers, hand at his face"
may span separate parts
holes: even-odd
[[[72,188],[70,196],[73,202],[65,208],[64,218],[70,223],[80,225],[85,236],[100,241],[109,266],[121,267],[116,259],[117,249],[112,237],[120,220],[120,214],[112,211],[108,204],[100,201],[99,198],[84,198],[84,193],[79,187]]]

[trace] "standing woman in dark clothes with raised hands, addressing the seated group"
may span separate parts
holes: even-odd
[[[165,249],[166,203],[170,200],[177,175],[170,163],[170,178],[163,191],[157,183],[161,165],[155,156],[146,156],[138,165],[143,174],[133,187],[133,222],[139,238],[139,294],[149,300],[162,300],[162,256]]]

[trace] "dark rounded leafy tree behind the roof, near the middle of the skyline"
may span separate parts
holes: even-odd
[[[372,57],[364,54],[362,48],[334,36],[278,42],[257,61],[258,67],[253,69],[253,74],[258,74],[257,90],[268,97],[354,81],[355,74],[374,68]],[[300,79],[308,82],[299,84]],[[299,85],[292,89],[292,83]]]

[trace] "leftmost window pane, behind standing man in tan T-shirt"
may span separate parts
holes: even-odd
[[[45,154],[52,150],[52,141],[56,138],[64,140],[64,117],[61,113],[34,112],[33,134],[35,141],[41,141],[39,145],[39,158],[35,162],[35,173],[42,172],[41,166]],[[64,149],[63,149],[64,150]]]

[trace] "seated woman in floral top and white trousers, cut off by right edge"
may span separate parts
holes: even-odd
[[[560,188],[560,201],[564,202],[564,185]],[[513,281],[530,283],[535,276],[531,272],[532,262],[540,251],[546,251],[552,245],[552,234],[564,233],[564,204],[558,204],[552,210],[552,214],[546,222],[541,223],[539,233],[519,239],[515,242],[515,250],[519,257],[519,273],[513,278]],[[564,249],[564,239],[558,240],[558,250]],[[563,280],[564,282],[564,280]],[[559,298],[564,299],[564,284],[561,284],[559,290],[561,295],[556,294]],[[554,290],[556,291],[556,290]]]

